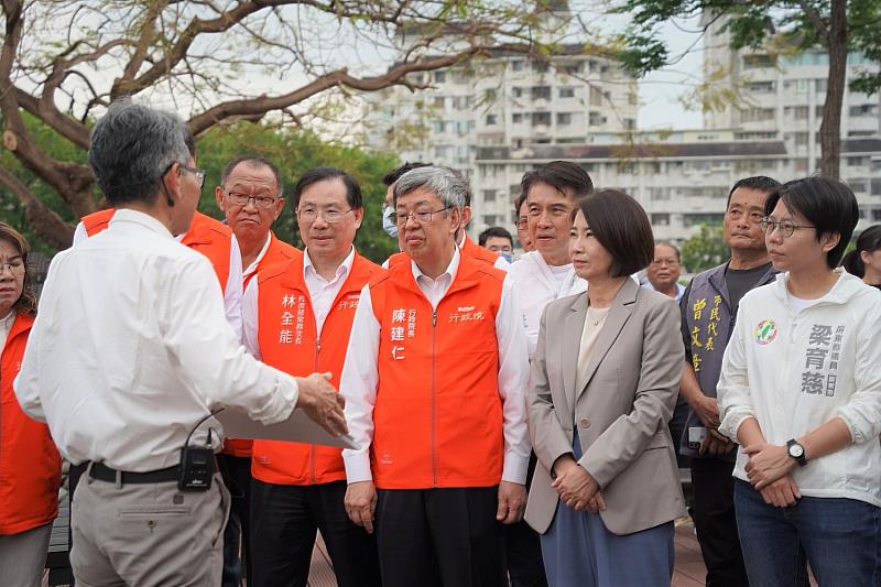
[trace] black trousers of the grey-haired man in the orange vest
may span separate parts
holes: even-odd
[[[498,488],[379,490],[384,587],[503,587]]]

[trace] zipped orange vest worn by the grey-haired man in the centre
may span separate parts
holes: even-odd
[[[380,489],[492,487],[504,452],[496,315],[504,272],[464,254],[433,311],[409,264],[370,283],[380,323],[370,446]]]

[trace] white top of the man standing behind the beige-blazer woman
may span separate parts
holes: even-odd
[[[523,308],[522,324],[526,328],[530,357],[535,354],[539,327],[545,306],[554,300],[587,291],[587,282],[575,274],[572,264],[561,265],[554,270],[563,274],[555,275],[542,253],[532,251],[514,261],[508,272],[520,295],[520,305]]]

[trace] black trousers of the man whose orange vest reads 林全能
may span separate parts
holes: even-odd
[[[251,556],[249,587],[305,587],[320,531],[339,587],[379,586],[373,536],[346,514],[346,481],[313,486],[251,486]]]

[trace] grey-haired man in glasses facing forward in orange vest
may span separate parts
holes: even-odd
[[[457,247],[467,194],[446,167],[398,181],[411,261],[361,291],[342,370],[346,509],[385,587],[507,585],[498,522],[523,514],[525,333],[505,273]]]

